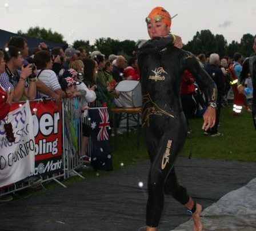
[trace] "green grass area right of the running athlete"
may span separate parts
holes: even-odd
[[[256,161],[255,135],[251,113],[243,110],[241,116],[233,116],[232,108],[225,107],[221,111],[218,131],[223,136],[203,136],[202,118],[189,121],[193,133],[186,140],[182,156],[225,159],[240,161]]]

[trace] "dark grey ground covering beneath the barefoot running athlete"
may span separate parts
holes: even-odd
[[[149,166],[149,161],[145,160],[118,172],[69,185],[66,189],[58,188],[1,205],[0,230],[137,231],[145,225]],[[175,169],[181,184],[204,208],[243,187],[256,175],[256,163],[225,160],[180,158]],[[142,188],[138,187],[139,182],[143,183]],[[249,209],[254,208],[255,205],[248,208],[248,214],[251,214]],[[211,209],[207,211],[205,216],[212,214]],[[171,196],[165,197],[159,231],[177,228],[189,219],[182,205]],[[216,219],[215,223],[225,220],[223,217]]]

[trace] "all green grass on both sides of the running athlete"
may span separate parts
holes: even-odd
[[[202,118],[190,119],[190,128],[193,133],[187,138],[186,144],[180,153],[184,157],[198,157],[207,159],[226,159],[226,160],[240,160],[240,161],[256,161],[255,154],[255,135],[256,131],[253,127],[251,113],[243,111],[241,116],[233,116],[232,108],[222,108],[221,112],[221,125],[219,132],[224,136],[210,137],[203,136],[201,129],[203,120]],[[141,135],[141,143],[137,149],[137,133],[130,132],[129,138],[126,133],[119,135],[117,138],[117,148],[113,149],[113,167],[114,171],[121,168],[126,168],[129,165],[137,164],[139,161],[148,158],[143,136]],[[111,147],[114,147],[114,137],[110,140]],[[122,166],[123,164],[123,166]],[[89,177],[100,177],[107,175],[109,172],[104,171],[85,171],[84,169],[78,170],[82,175],[88,179]],[[70,177],[62,181],[65,185],[74,184],[83,179],[78,176]],[[60,187],[54,182],[44,184],[47,190]],[[34,194],[42,194],[45,190],[38,189],[25,189],[19,191],[16,199],[31,196]]]

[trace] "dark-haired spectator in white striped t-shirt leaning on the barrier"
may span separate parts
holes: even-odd
[[[51,54],[49,51],[38,51],[34,56],[35,65],[38,68],[37,78],[41,80],[47,87],[58,94],[61,98],[65,98],[66,94],[61,90],[57,75],[51,70],[53,67],[53,61],[51,60]],[[49,95],[38,92],[38,98],[49,97]]]

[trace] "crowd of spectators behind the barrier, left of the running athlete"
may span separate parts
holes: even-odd
[[[29,55],[23,37],[11,37],[7,41],[2,59],[1,89],[11,92],[14,102],[38,98],[53,98],[59,102],[74,97],[75,92],[63,91],[60,84],[64,72],[70,68],[76,74],[68,77],[80,83],[75,90],[85,91],[89,103],[97,99],[110,108],[114,98],[119,96],[115,86],[121,80],[139,80],[136,58],[131,58],[128,66],[122,55],[112,54],[106,59],[100,51],[93,51],[87,57],[83,47],[70,47],[64,51],[62,47],[50,49],[45,43],[40,43]]]

